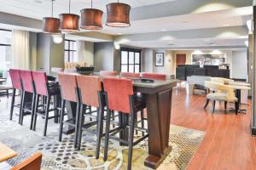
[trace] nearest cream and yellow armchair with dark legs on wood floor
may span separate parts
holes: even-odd
[[[224,107],[227,109],[227,103],[235,103],[235,110],[236,115],[238,112],[238,102],[237,98],[234,93],[234,88],[232,88],[229,85],[224,85],[223,82],[205,82],[205,86],[207,88],[212,89],[215,93],[207,94],[207,103],[205,105],[205,109],[207,108],[207,105],[209,104],[209,101],[212,101],[212,113],[215,110],[215,103],[216,101],[224,101]]]

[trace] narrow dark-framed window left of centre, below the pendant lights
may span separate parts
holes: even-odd
[[[65,40],[65,62],[77,62],[78,54],[76,41]]]

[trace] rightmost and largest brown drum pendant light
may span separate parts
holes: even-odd
[[[126,3],[109,3],[107,5],[107,26],[127,27],[130,24],[131,6]]]

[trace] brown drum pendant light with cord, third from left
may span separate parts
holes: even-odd
[[[102,10],[92,8],[92,0],[90,8],[81,10],[81,28],[85,30],[102,30]]]

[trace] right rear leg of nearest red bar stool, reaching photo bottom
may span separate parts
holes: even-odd
[[[128,170],[131,170],[131,161],[132,161],[132,148],[133,148],[133,136],[134,136],[134,121],[135,116],[134,113],[131,112],[131,122],[130,122],[130,134],[128,140]]]

